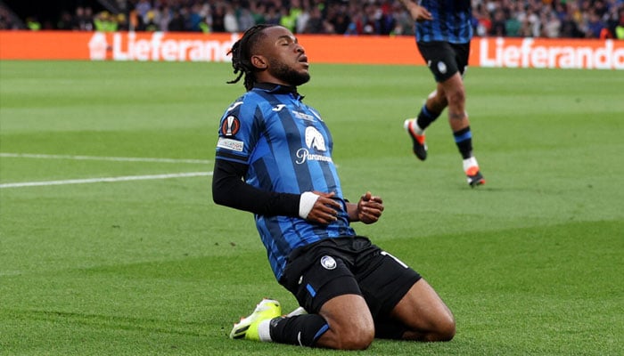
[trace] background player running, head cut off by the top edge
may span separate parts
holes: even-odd
[[[472,132],[465,110],[464,71],[468,66],[472,39],[470,1],[399,0],[416,22],[416,44],[436,80],[436,89],[429,95],[416,118],[404,122],[412,138],[417,158],[427,158],[425,129],[448,109],[448,123],[453,131],[464,174],[471,187],[485,183],[477,158],[472,154]]]

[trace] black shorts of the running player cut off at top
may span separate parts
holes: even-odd
[[[468,67],[470,42],[466,44],[418,42],[417,45],[418,51],[433,73],[433,77],[436,78],[436,82],[444,82],[457,72],[464,76],[466,67]]]

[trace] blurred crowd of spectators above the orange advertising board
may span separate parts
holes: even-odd
[[[473,0],[476,36],[624,39],[624,0]],[[119,12],[77,7],[58,20],[15,19],[0,7],[0,29],[242,32],[278,23],[293,33],[413,35],[397,0],[127,0]]]

